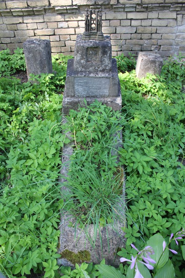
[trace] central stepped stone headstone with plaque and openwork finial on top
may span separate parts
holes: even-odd
[[[116,59],[112,58],[110,37],[101,31],[101,16],[101,10],[86,10],[85,32],[77,36],[74,59],[68,60],[64,114],[79,104],[84,106],[84,98],[88,105],[97,99],[114,110],[121,109]]]

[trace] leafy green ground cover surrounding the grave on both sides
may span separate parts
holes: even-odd
[[[60,277],[57,228],[64,203],[59,197],[58,173],[61,147],[69,140],[61,133],[59,92],[64,89],[67,58],[53,58],[56,74],[37,76],[39,84],[31,85],[10,76],[25,70],[22,50],[14,55],[7,50],[0,52],[0,271],[7,277],[29,277],[30,273]],[[182,60],[170,59],[160,77],[150,75],[139,80],[133,70],[134,59],[118,59],[123,105],[119,115],[123,120],[123,148],[119,153],[125,165],[127,197],[127,244],[118,255],[130,260],[137,255],[130,244],[142,250],[149,238],[159,233],[167,243],[172,233],[185,226],[185,65]],[[98,103],[95,106],[103,119],[106,108]],[[83,110],[81,121],[75,113],[71,112],[69,120],[73,134],[75,125],[76,149],[81,149],[74,161],[80,162],[85,155],[81,146],[89,150],[96,141],[92,137],[99,140],[106,129],[98,134],[98,129],[94,132],[89,127],[88,109]],[[105,117],[102,123],[103,128]],[[108,177],[111,165],[116,168],[114,157],[99,156]],[[103,223],[109,221],[106,216],[102,218]],[[168,247],[178,252],[169,252],[169,259],[176,277],[183,278],[183,238],[178,245],[171,240]],[[114,269],[102,262],[99,266],[76,265],[76,271],[63,267],[61,273],[65,278],[108,278],[112,271],[114,276],[125,277],[128,268],[128,264],[120,264]]]

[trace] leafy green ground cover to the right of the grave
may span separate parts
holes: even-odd
[[[128,225],[127,245],[118,254],[130,259],[130,243],[141,248],[153,234],[166,238],[185,226],[185,65],[170,59],[161,77],[138,79],[134,70],[119,76],[122,112],[127,115],[120,154],[127,174]],[[179,248],[173,244],[178,251],[183,242]],[[170,257],[176,276],[182,278],[180,253]]]

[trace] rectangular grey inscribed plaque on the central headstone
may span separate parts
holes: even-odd
[[[110,79],[105,77],[75,77],[76,97],[108,97]]]

